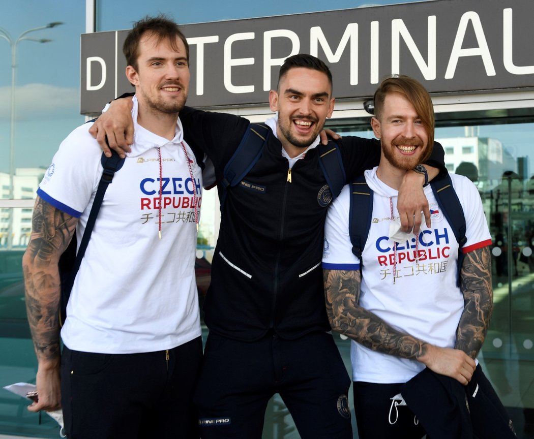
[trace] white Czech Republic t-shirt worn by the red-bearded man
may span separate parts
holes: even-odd
[[[421,225],[417,260],[415,235],[409,241],[398,243],[396,252],[394,242],[388,238],[391,209],[394,218],[398,218],[398,191],[376,176],[376,167],[365,171],[365,179],[374,191],[374,198],[373,219],[362,252],[359,305],[402,332],[436,346],[454,347],[456,329],[464,310],[464,297],[456,285],[458,243],[432,189],[425,188],[432,225],[430,229],[424,222]],[[491,235],[476,187],[461,175],[451,174],[451,179],[466,219],[467,242],[462,251],[466,253],[490,245]],[[360,268],[360,261],[351,251],[349,206],[350,187],[347,185],[328,210],[323,268]],[[354,381],[375,383],[405,382],[425,368],[416,360],[382,354],[354,340],[351,362]]]

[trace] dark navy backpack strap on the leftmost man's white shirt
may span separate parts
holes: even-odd
[[[104,199],[104,194],[106,193],[106,189],[109,186],[109,183],[112,182],[115,172],[121,169],[122,165],[124,164],[124,158],[119,157],[119,154],[112,150],[111,157],[106,157],[104,153],[102,153],[100,162],[103,167],[103,172],[102,176],[100,177],[100,182],[98,183],[95,201],[93,201],[91,211],[89,212],[89,218],[87,220],[87,225],[85,226],[83,232],[80,248],[76,253],[77,240],[75,234],[65,252],[61,254],[59,260],[59,269],[61,275],[59,321],[61,325],[65,323],[65,318],[67,316],[67,302],[70,297],[70,290],[72,290],[72,286],[74,285],[74,279],[76,277],[76,274],[78,273],[78,269],[80,269],[85,250],[87,250],[87,246],[91,238],[91,233],[93,231],[93,227],[95,227],[98,212],[100,211],[100,206],[102,205],[102,201]]]

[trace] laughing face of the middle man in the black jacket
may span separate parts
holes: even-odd
[[[269,103],[278,111],[277,136],[290,157],[309,147],[334,110],[332,86],[322,71],[306,67],[289,69],[271,90]]]

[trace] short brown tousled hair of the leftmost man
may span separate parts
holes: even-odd
[[[126,57],[128,66],[132,66],[137,70],[137,59],[139,58],[139,42],[146,33],[150,33],[158,37],[158,43],[167,39],[173,50],[178,50],[176,46],[176,38],[180,38],[185,45],[185,54],[187,62],[189,62],[189,44],[182,31],[178,29],[178,25],[167,18],[166,15],[160,14],[157,17],[145,17],[133,25],[132,30],[129,31],[124,44],[122,46],[122,53]]]

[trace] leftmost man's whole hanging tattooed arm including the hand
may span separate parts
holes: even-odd
[[[77,218],[37,197],[32,236],[22,258],[26,313],[38,362],[39,400],[28,407],[33,412],[56,410],[61,405],[58,261],[74,236],[77,222]]]

